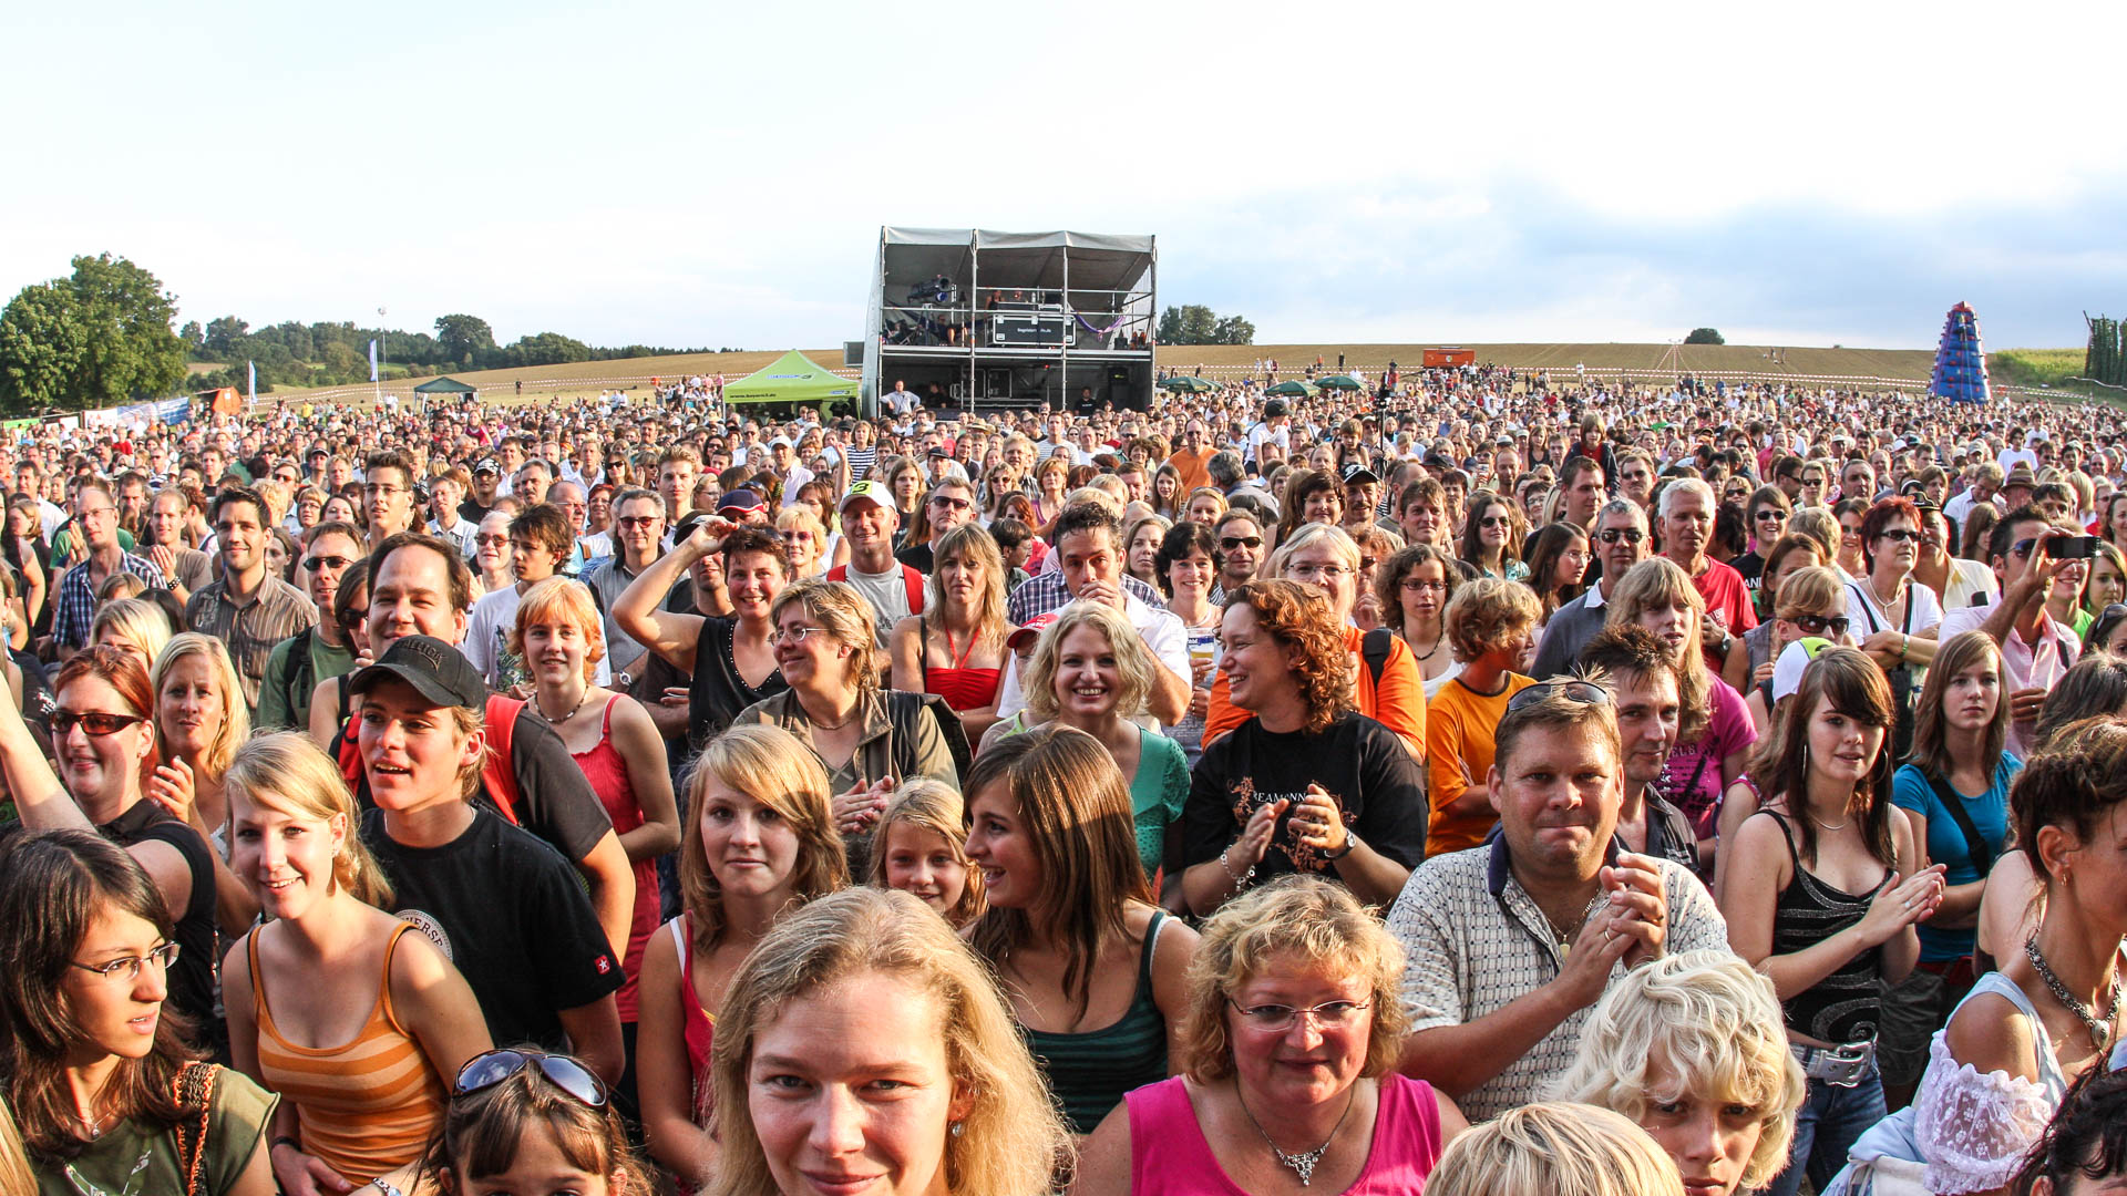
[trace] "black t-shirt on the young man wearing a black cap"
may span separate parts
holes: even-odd
[[[372,809],[362,841],[391,879],[391,911],[466,977],[498,1045],[568,1049],[559,1013],[619,992],[621,962],[583,881],[538,836],[472,807],[472,826],[451,843],[406,847]]]

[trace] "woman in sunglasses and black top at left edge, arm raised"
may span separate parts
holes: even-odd
[[[51,749],[21,721],[13,696],[0,700],[0,770],[23,826],[32,830],[94,828],[125,847],[153,877],[185,958],[170,970],[170,1007],[187,1019],[196,1045],[228,1039],[215,1017],[215,864],[213,849],[179,815],[149,800],[155,768],[155,690],[130,655],[115,647],[79,651],[53,683],[57,707]],[[72,796],[64,800],[62,792]]]

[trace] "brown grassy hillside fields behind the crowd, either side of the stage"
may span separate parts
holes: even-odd
[[[1174,370],[1198,370],[1217,377],[1246,372],[1259,360],[1276,360],[1280,375],[1295,375],[1321,353],[1327,366],[1336,366],[1338,353],[1344,366],[1380,372],[1389,362],[1406,370],[1423,360],[1427,347],[1442,340],[1408,345],[1166,345],[1159,349],[1159,364]],[[1502,366],[1527,366],[1546,370],[1655,370],[1668,360],[1670,345],[1621,345],[1621,343],[1463,343],[1476,351],[1478,362]],[[832,370],[842,370],[842,349],[806,349],[808,358]],[[602,389],[640,389],[651,379],[676,379],[687,375],[723,375],[738,379],[781,358],[781,349],[744,353],[679,353],[668,358],[627,358],[617,362],[576,362],[566,366],[527,366],[515,370],[466,370],[451,377],[481,387],[483,396],[508,402],[523,383],[523,398],[576,398]],[[1676,364],[1687,372],[1755,372],[1808,377],[1859,377],[1859,379],[1914,379],[1925,381],[1933,368],[1931,349],[1812,349],[1763,345],[1682,345],[1676,349]],[[2053,383],[2082,368],[2082,349],[2006,349],[1989,353],[1993,377],[2012,385]],[[853,368],[842,370],[855,375]],[[434,375],[413,379],[391,379],[385,389],[406,394],[413,385]],[[368,385],[321,387],[321,389],[277,389],[272,398],[338,398],[362,402],[370,394]]]

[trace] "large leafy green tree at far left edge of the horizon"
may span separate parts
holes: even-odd
[[[170,392],[185,343],[177,296],[125,258],[74,258],[74,272],[23,287],[0,332],[0,400],[15,409],[111,406]]]

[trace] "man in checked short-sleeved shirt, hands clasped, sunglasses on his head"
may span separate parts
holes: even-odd
[[[1421,864],[1389,913],[1410,960],[1400,1070],[1472,1119],[1536,1100],[1574,1058],[1587,1011],[1627,968],[1727,951],[1706,885],[1617,838],[1617,704],[1551,679],[1508,702],[1485,775],[1500,834]]]

